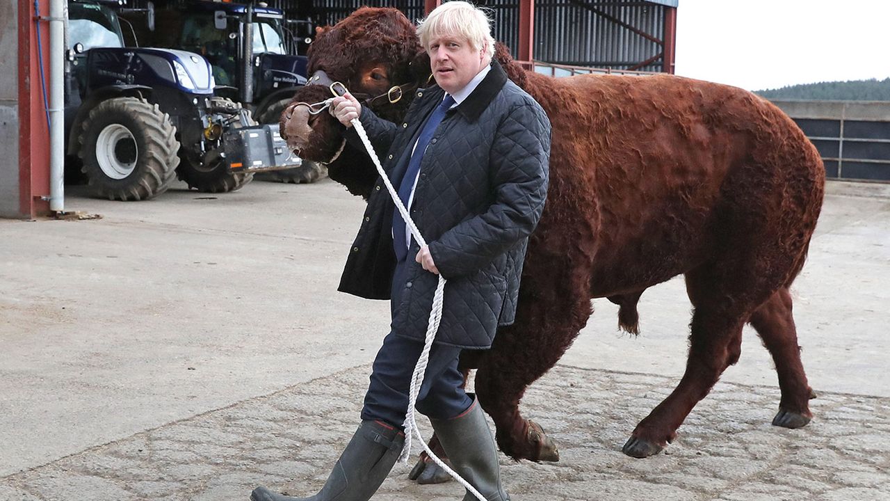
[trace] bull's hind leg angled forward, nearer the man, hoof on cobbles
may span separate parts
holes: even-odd
[[[739,290],[739,285],[748,290]],[[658,454],[676,437],[676,429],[692,407],[708,395],[726,367],[739,360],[742,326],[772,293],[752,293],[751,286],[733,281],[732,275],[725,275],[719,265],[686,275],[687,291],[695,308],[686,371],[676,389],[636,425],[623,448],[627,456]]]

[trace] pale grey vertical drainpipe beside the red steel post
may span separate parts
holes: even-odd
[[[65,211],[66,0],[50,0],[50,210]]]

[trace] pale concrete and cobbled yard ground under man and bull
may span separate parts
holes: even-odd
[[[336,292],[364,202],[339,185],[255,182],[155,201],[85,198],[79,221],[0,220],[0,500],[246,499],[320,487],[354,430],[388,305]],[[890,499],[890,186],[830,183],[794,288],[819,398],[769,425],[779,392],[747,332],[738,365],[667,454],[620,447],[683,373],[681,280],[642,333],[595,314],[523,411],[557,464],[514,464],[514,500]],[[422,423],[421,426],[426,426]],[[398,466],[375,499],[457,499]]]

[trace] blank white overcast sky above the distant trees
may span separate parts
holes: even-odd
[[[761,90],[890,77],[890,1],[680,0],[676,74]]]

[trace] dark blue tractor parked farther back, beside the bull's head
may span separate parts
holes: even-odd
[[[125,12],[143,45],[198,53],[213,67],[214,93],[241,103],[261,124],[277,124],[297,87],[306,83],[309,21],[285,21],[284,12],[263,3],[158,0],[155,27],[145,29],[138,12]],[[300,167],[264,173],[273,180],[311,183],[324,168]]]

